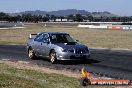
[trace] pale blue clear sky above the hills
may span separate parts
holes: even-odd
[[[131,4],[132,0],[0,0],[0,12],[78,9],[89,12],[108,11],[116,15],[132,16]]]

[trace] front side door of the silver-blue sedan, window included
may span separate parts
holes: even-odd
[[[43,39],[42,39],[42,43],[40,45],[40,54],[43,57],[48,57],[49,56],[49,35],[48,34],[43,34]]]

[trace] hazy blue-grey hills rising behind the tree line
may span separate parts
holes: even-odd
[[[112,14],[110,12],[104,11],[104,12],[88,12],[86,10],[76,10],[76,9],[67,9],[67,10],[58,10],[58,11],[25,11],[20,13],[12,13],[11,15],[22,15],[22,14],[32,14],[32,15],[55,15],[55,16],[68,16],[68,15],[75,15],[75,14],[81,14],[81,15],[92,15],[93,17],[115,17],[117,15]]]

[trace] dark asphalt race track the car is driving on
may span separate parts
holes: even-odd
[[[28,59],[24,45],[0,45],[0,59],[27,61],[39,66],[70,69],[77,72],[85,67],[89,72],[100,76],[132,80],[132,51],[130,50],[91,49],[91,58],[87,62],[65,61],[51,64],[42,58]]]

